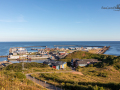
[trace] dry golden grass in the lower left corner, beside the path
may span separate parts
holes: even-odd
[[[16,72],[14,71],[0,71],[0,90],[46,90],[25,77],[14,77],[15,74]]]

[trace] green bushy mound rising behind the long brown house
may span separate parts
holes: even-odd
[[[113,55],[104,55],[104,54],[92,54],[84,51],[73,52],[67,55],[64,59],[60,59],[60,61],[66,61],[68,62],[68,65],[70,65],[70,62],[73,58],[98,59],[99,61],[102,61],[102,62],[95,64],[94,66],[96,67],[113,65],[116,67],[116,69],[120,69],[120,65],[119,65],[120,57],[113,56]]]

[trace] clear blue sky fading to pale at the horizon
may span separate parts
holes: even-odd
[[[120,0],[0,0],[0,41],[120,41]],[[120,7],[120,6],[119,6]]]

